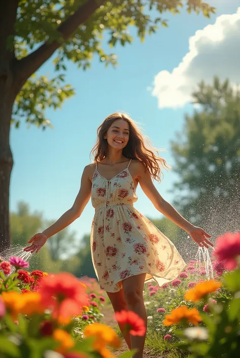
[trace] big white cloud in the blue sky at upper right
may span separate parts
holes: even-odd
[[[178,67],[154,77],[152,95],[159,108],[183,107],[191,101],[197,84],[212,83],[215,75],[229,78],[231,84],[240,83],[240,7],[235,14],[221,15],[213,25],[197,30]]]

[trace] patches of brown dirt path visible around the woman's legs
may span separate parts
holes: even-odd
[[[115,328],[117,327],[117,321],[115,320],[115,318],[113,317],[114,315],[114,310],[112,308],[111,305],[106,305],[102,308],[101,313],[104,314],[104,317],[102,317],[101,319],[101,323],[105,323],[107,326],[111,327],[111,328]],[[122,340],[122,345],[119,349],[114,350],[113,354],[117,357],[118,355],[128,351],[129,348],[125,342],[125,340]],[[144,351],[143,351],[143,358],[161,358],[161,356],[159,355],[154,355],[154,354],[150,354],[151,348],[145,347]]]

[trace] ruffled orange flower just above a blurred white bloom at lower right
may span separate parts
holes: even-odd
[[[188,309],[187,306],[180,306],[167,314],[163,323],[165,326],[172,326],[181,322],[182,319],[185,319],[188,323],[193,323],[194,326],[197,326],[198,322],[202,321],[196,308]]]

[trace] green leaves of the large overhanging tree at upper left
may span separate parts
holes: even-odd
[[[61,75],[50,80],[44,76],[37,77],[34,70],[31,77],[26,79],[13,108],[12,124],[16,127],[19,126],[21,118],[25,118],[29,125],[35,124],[43,129],[51,127],[50,120],[45,117],[45,110],[61,107],[64,100],[74,94],[74,89],[70,85],[60,83],[64,80],[63,73],[67,70],[67,60],[76,63],[78,68],[87,70],[94,55],[97,55],[105,66],[116,66],[116,55],[104,51],[103,41],[107,41],[110,48],[117,44],[125,46],[132,43],[130,27],[135,27],[137,36],[144,41],[145,36],[154,33],[159,26],[168,26],[167,20],[162,17],[164,13],[179,14],[185,4],[183,0],[102,2],[103,5],[92,13],[90,11],[86,21],[75,28],[70,36],[65,36],[61,33],[64,21],[85,3],[84,0],[19,1],[15,34],[8,38],[8,48],[14,49],[18,60],[23,60],[37,46],[58,43],[53,64],[55,71],[61,71]],[[188,0],[184,7],[188,13],[202,12],[207,17],[215,12],[213,7],[201,0]],[[158,12],[160,17],[154,17],[152,14],[155,12]],[[40,62],[44,63],[50,55],[44,55]]]

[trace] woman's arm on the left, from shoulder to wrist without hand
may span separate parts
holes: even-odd
[[[90,171],[90,166],[86,166],[84,168],[81,179],[81,187],[78,191],[78,194],[72,207],[67,210],[56,222],[54,222],[51,226],[47,227],[47,229],[43,231],[43,233],[47,235],[48,238],[65,229],[66,226],[70,225],[82,214],[91,197],[92,183],[89,179]]]

